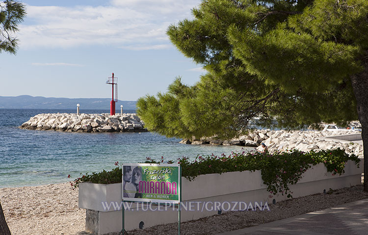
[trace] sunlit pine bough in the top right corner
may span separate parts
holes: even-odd
[[[303,14],[290,17],[296,32],[308,32],[325,41],[368,48],[368,1],[315,0]]]

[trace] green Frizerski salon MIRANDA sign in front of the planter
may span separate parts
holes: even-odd
[[[178,164],[124,163],[123,201],[180,203]]]

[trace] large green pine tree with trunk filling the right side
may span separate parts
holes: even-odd
[[[192,14],[167,34],[207,74],[193,86],[174,82],[175,94],[190,91],[174,95],[175,106],[165,103],[160,118],[175,125],[155,116],[167,94],[141,98],[149,130],[234,136],[255,120],[297,129],[359,118],[368,175],[367,0],[203,0]]]

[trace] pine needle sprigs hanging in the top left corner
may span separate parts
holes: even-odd
[[[5,0],[0,2],[0,53],[16,53],[18,40],[13,33],[18,31],[18,25],[26,17],[26,7],[23,2]]]

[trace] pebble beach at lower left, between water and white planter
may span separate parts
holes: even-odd
[[[85,210],[69,183],[0,188],[1,206],[12,235],[77,235]]]

